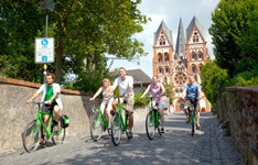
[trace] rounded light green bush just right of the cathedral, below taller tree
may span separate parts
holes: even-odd
[[[217,92],[225,90],[228,79],[226,70],[219,68],[214,61],[209,61],[202,67],[201,77],[205,96],[212,105],[215,105]]]

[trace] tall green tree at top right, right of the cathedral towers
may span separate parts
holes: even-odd
[[[256,0],[222,0],[212,13],[209,28],[216,64],[237,74],[238,61],[243,59],[240,43],[250,29]]]

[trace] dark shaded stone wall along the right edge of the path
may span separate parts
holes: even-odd
[[[229,121],[245,164],[258,164],[258,87],[230,87],[218,98],[218,117]]]

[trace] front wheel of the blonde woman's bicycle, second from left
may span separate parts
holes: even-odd
[[[95,113],[90,118],[90,136],[95,142],[97,142],[101,138],[103,128],[103,121],[99,120],[98,113]]]

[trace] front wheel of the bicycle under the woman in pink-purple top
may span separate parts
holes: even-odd
[[[154,119],[152,118],[152,111],[149,111],[146,117],[146,133],[150,140],[153,140],[155,135],[155,124]]]

